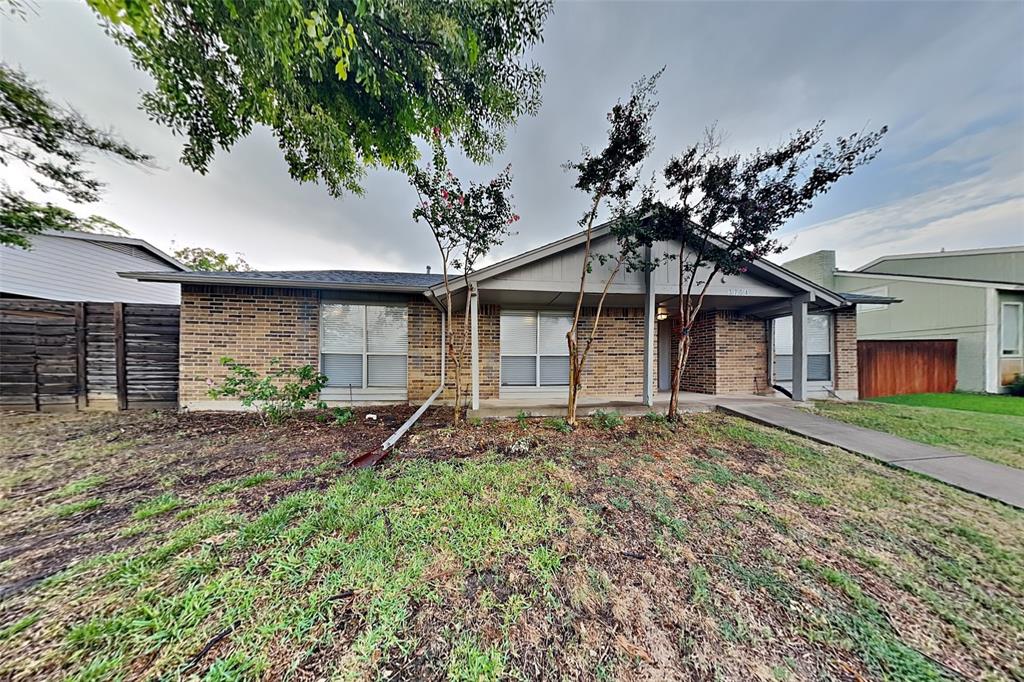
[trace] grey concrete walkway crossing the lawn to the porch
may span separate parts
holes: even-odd
[[[844,424],[787,406],[737,402],[720,404],[719,410],[1024,509],[1024,471],[1020,469]]]

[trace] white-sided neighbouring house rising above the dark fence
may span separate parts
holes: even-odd
[[[97,303],[177,303],[176,284],[134,282],[125,270],[187,268],[142,240],[76,231],[32,238],[31,249],[0,246],[0,297]]]

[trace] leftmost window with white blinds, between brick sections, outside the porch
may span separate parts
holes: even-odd
[[[409,311],[401,305],[321,306],[321,372],[328,386],[404,388]]]

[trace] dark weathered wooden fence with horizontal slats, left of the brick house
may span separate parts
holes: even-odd
[[[177,404],[177,305],[0,299],[0,408]]]

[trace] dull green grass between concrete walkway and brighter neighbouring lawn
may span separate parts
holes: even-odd
[[[841,422],[1024,469],[1024,419],[1020,417],[873,400],[819,400],[813,411]]]

